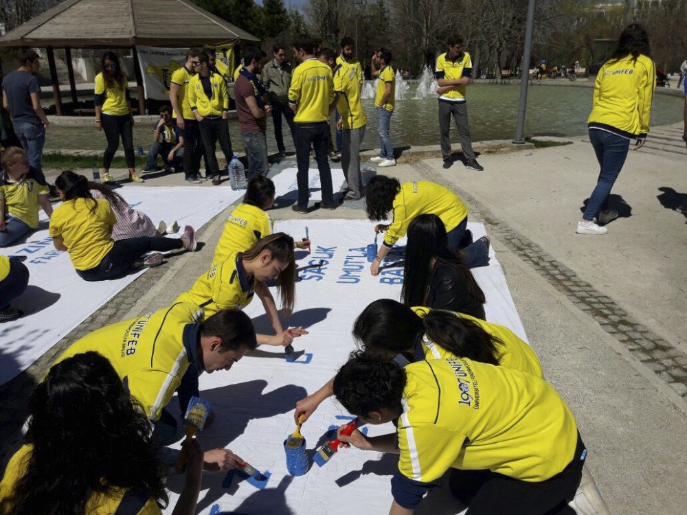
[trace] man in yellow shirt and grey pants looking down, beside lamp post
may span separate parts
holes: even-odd
[[[460,36],[450,36],[447,43],[449,51],[436,58],[434,72],[439,84],[439,131],[444,168],[451,168],[453,164],[449,139],[453,116],[460,137],[460,148],[465,157],[465,168],[481,172],[484,168],[475,159],[468,126],[468,108],[465,103],[465,87],[473,82],[472,60],[470,54],[463,52],[463,39]]]

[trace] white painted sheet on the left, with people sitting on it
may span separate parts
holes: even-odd
[[[180,231],[185,225],[199,229],[245,193],[229,187],[140,186],[124,186],[117,192],[155,225],[160,220],[168,225],[177,220]],[[76,275],[69,255],[54,249],[47,225],[45,218],[43,229],[27,242],[0,249],[3,255],[26,256],[24,264],[30,273],[27,290],[12,302],[14,308],[25,312],[24,317],[0,325],[0,385],[26,369],[142,273],[113,281],[84,281]]]

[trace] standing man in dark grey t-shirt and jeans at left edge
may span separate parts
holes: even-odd
[[[19,54],[19,68],[8,73],[2,81],[3,106],[10,112],[14,132],[27,154],[29,164],[35,172],[34,178],[45,184],[43,175],[43,145],[47,116],[41,107],[41,86],[36,73],[41,67],[38,53],[33,49]]]

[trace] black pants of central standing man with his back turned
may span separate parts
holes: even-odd
[[[322,185],[322,203],[326,205],[334,204],[332,191],[332,170],[329,168],[327,160],[327,135],[329,124],[327,122],[317,122],[313,124],[295,124],[296,126],[296,161],[298,163],[298,173],[296,180],[298,183],[298,205],[306,207],[310,193],[308,170],[310,168],[310,149],[315,150],[317,169],[319,170],[319,182]]]

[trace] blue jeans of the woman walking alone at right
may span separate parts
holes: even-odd
[[[592,141],[596,159],[598,159],[601,171],[596,181],[596,187],[589,196],[589,203],[582,218],[594,220],[599,211],[608,209],[608,197],[611,194],[613,183],[616,182],[622,165],[627,158],[627,151],[630,148],[630,140],[616,136],[605,130],[590,129],[589,141]]]

